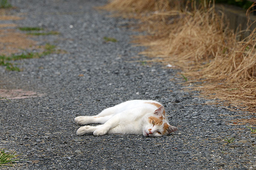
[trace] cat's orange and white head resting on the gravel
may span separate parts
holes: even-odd
[[[144,136],[160,137],[178,130],[178,128],[168,123],[164,114],[164,106],[160,106],[154,113],[148,114],[148,117],[144,120]]]

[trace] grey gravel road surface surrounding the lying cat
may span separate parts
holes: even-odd
[[[19,26],[59,35],[33,37],[67,51],[16,61],[21,72],[0,67],[0,89],[23,89],[42,97],[0,101],[0,148],[23,161],[12,170],[256,169],[256,136],[234,119],[250,118],[186,91],[177,70],[143,62],[134,47],[131,20],[95,10],[106,0],[12,0]],[[105,42],[113,37],[118,42]],[[141,61],[141,62],[140,62]],[[171,80],[171,81],[170,81]],[[164,104],[179,131],[164,137],[76,136],[73,119],[132,99]],[[234,137],[233,143],[223,139]]]

